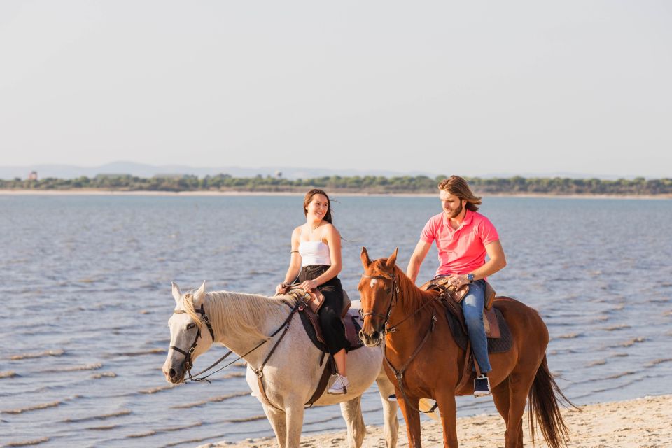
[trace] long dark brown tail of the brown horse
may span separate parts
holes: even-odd
[[[530,436],[532,440],[534,440],[534,420],[537,419],[541,433],[549,448],[562,448],[566,446],[566,440],[569,439],[569,430],[562,419],[557,395],[567,405],[575,407],[553,379],[544,355],[544,360],[537,370],[528,393],[528,414],[530,416]]]

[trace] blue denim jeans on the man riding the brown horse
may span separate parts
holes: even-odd
[[[471,349],[482,373],[490,372],[488,358],[488,338],[483,326],[483,307],[485,302],[485,281],[477,280],[471,283],[469,293],[462,300],[464,321],[471,340]]]

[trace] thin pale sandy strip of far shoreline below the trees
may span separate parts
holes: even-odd
[[[436,197],[434,193],[355,193],[328,192],[333,197]],[[669,200],[672,195],[552,195],[549,193],[479,193],[483,197],[538,197],[545,199],[643,199]],[[301,192],[291,191],[155,191],[155,190],[8,190],[0,189],[0,196],[303,196]]]

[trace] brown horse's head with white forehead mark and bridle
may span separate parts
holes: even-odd
[[[364,274],[357,289],[362,298],[364,325],[359,337],[367,346],[377,346],[385,335],[385,325],[390,318],[394,297],[399,292],[394,273],[398,249],[390,258],[369,260],[369,253],[362,248]]]

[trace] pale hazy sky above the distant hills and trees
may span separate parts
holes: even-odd
[[[672,176],[669,1],[8,1],[0,165]]]

